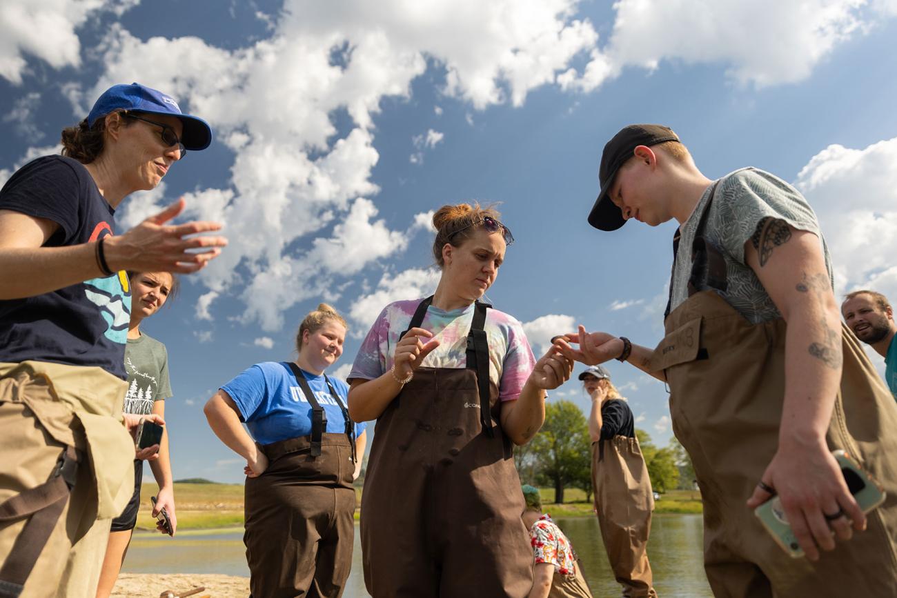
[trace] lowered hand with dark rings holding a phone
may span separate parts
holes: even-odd
[[[852,530],[866,529],[866,516],[850,495],[840,466],[824,440],[779,443],[761,481],[779,495],[788,524],[810,560],[819,559],[820,548],[834,550],[835,537],[846,541]],[[747,507],[759,507],[772,496],[758,485]],[[825,515],[838,513],[843,515],[826,521]]]

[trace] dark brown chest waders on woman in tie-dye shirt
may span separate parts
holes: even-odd
[[[523,495],[489,378],[488,307],[476,303],[466,368],[418,368],[377,420],[361,498],[374,598],[522,598],[532,586]]]

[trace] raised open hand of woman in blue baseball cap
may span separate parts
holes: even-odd
[[[126,233],[105,238],[103,250],[109,268],[113,271],[194,273],[221,254],[227,238],[190,236],[221,230],[219,222],[166,224],[183,212],[185,205],[181,198]],[[202,250],[188,251],[196,249]]]

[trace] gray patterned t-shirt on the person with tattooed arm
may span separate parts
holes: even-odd
[[[687,221],[679,227],[679,251],[671,281],[670,311],[688,299],[688,280],[692,273],[692,242],[701,212],[710,200],[709,186]],[[825,267],[832,280],[832,261],[813,208],[803,195],[782,179],[760,169],[740,169],[719,179],[710,204],[704,237],[712,241],[726,260],[727,290],[718,294],[752,324],[780,317],[750,266],[745,264],[745,242],[766,217],[788,222],[797,230],[812,232],[820,239]]]

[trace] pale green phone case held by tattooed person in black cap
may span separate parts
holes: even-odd
[[[881,485],[863,471],[847,453],[838,449],[832,451],[832,455],[840,465],[841,474],[848,482],[850,493],[853,494],[853,498],[856,499],[864,513],[868,513],[884,502],[884,490]],[[797,543],[797,537],[791,530],[791,525],[788,524],[788,517],[785,516],[785,509],[782,507],[779,497],[770,498],[760,507],[755,508],[753,514],[760,519],[772,539],[788,553],[788,556],[793,559],[804,556],[804,549]]]

